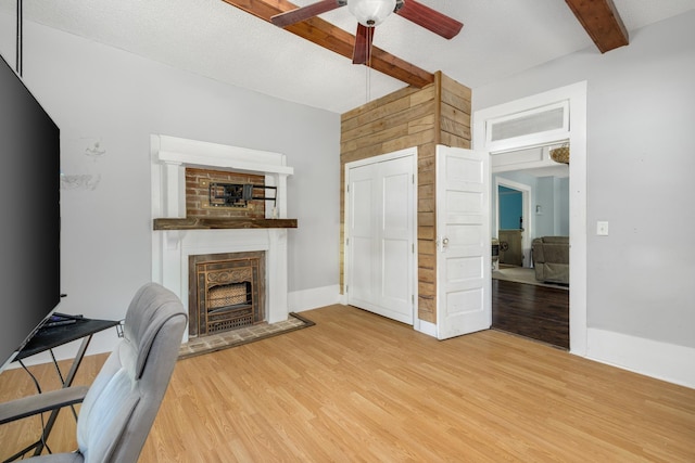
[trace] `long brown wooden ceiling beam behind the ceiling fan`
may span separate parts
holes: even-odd
[[[295,4],[286,0],[223,1],[268,23],[274,15],[298,8]],[[355,22],[355,29],[356,27],[357,23]],[[333,26],[320,17],[312,17],[302,23],[288,26],[285,29],[352,61],[355,36],[340,27]],[[371,49],[371,68],[417,88],[422,88],[434,81],[433,74],[377,47]]]

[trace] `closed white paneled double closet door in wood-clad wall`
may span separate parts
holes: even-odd
[[[350,168],[348,304],[414,320],[414,158]]]

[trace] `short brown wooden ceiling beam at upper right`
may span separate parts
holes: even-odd
[[[565,0],[602,53],[627,46],[628,30],[612,0]]]

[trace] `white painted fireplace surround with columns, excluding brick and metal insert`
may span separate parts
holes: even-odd
[[[152,281],[179,296],[188,310],[189,258],[197,255],[258,252],[265,255],[265,322],[288,320],[287,229],[274,220],[287,219],[287,178],[293,168],[286,156],[167,136],[151,136],[152,155]],[[276,187],[276,201],[266,201],[262,228],[241,229],[168,222],[186,219],[186,168],[214,169],[263,176]],[[159,227],[157,222],[167,222]],[[188,342],[188,332],[184,343]]]

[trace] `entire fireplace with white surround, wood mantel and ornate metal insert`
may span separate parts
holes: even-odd
[[[296,220],[287,218],[287,179],[294,169],[287,166],[286,156],[168,136],[151,136],[151,156],[152,281],[172,290],[191,313],[189,330],[182,340],[187,342],[189,336],[235,327],[237,324],[288,320],[288,229],[296,228]],[[236,207],[237,217],[212,217],[210,211],[217,207],[216,204],[211,204],[210,207],[202,205],[200,214],[189,216],[186,197],[187,169],[224,171],[235,176],[211,178],[216,182],[262,184],[263,189],[250,191],[248,196],[265,196],[268,200],[264,197],[261,200],[263,204],[245,209]],[[239,175],[252,177],[236,177]],[[190,180],[188,183],[188,188],[194,187]],[[200,187],[201,180],[197,180],[197,184]],[[210,191],[208,187],[202,188]],[[245,201],[244,197],[242,200]],[[188,206],[190,208],[191,205]],[[235,203],[235,206],[239,204]],[[261,214],[256,214],[257,211]],[[228,287],[211,283],[213,294],[204,297],[217,299],[220,293],[220,301],[213,303],[220,307],[205,309],[205,320],[201,322],[198,309],[192,312],[194,306],[190,298],[193,292],[197,293],[193,299],[195,305],[201,298],[198,291],[198,279],[201,276],[194,268],[205,259],[198,261],[197,256],[229,257],[240,253],[258,253],[263,256],[255,267],[260,273],[254,287],[251,288],[245,280],[230,283]],[[233,263],[238,260],[235,257],[223,260],[228,260],[227,265],[231,266],[238,263]],[[205,270],[202,273],[214,274],[211,271],[214,266],[204,263]],[[253,265],[250,267],[254,268]],[[252,273],[253,271],[251,270]],[[233,269],[227,272],[238,273]],[[248,270],[244,272],[248,273]],[[191,274],[195,274],[195,279]],[[213,278],[222,278],[222,274],[224,272]],[[193,285],[191,280],[197,284]],[[253,295],[257,291],[258,296],[255,300],[251,299],[251,305],[255,304],[252,314],[245,307],[249,304],[236,303],[235,298],[240,298],[242,291],[244,297],[247,292]],[[226,297],[235,301],[225,301]]]

